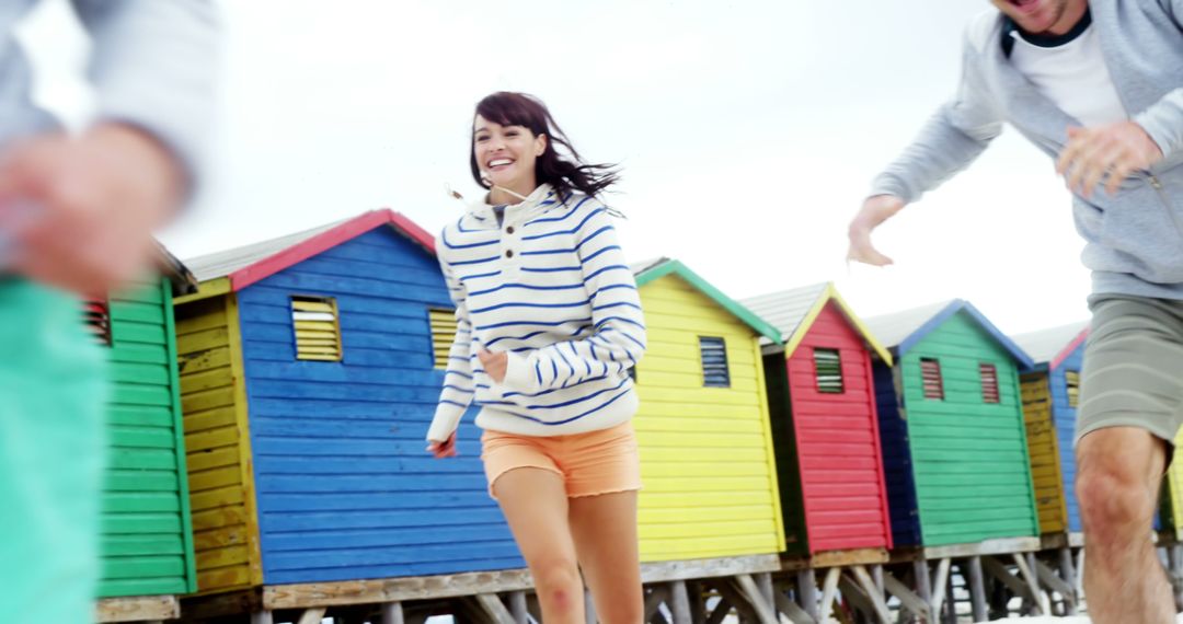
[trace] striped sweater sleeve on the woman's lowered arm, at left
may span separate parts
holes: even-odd
[[[440,390],[435,416],[427,430],[427,440],[444,442],[460,425],[460,417],[467,411],[473,398],[471,340],[472,325],[468,321],[468,305],[464,285],[455,278],[452,267],[444,254],[439,252],[440,268],[447,282],[448,295],[455,305],[455,337],[448,350],[447,372],[444,375],[444,388]]]

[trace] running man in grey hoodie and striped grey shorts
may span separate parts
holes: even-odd
[[[874,180],[849,258],[891,264],[871,232],[1003,123],[1056,161],[1093,275],[1077,427],[1090,615],[1174,622],[1150,531],[1183,424],[1183,0],[991,4],[967,30],[957,93]]]

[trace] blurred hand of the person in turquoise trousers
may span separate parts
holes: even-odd
[[[8,269],[93,295],[147,265],[151,232],[183,199],[172,154],[130,125],[45,135],[0,157],[0,230]]]

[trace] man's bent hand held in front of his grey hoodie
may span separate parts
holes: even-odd
[[[1163,150],[1133,122],[1068,128],[1068,144],[1055,162],[1055,171],[1067,176],[1069,190],[1088,199],[1106,174],[1105,190],[1113,195],[1130,174],[1149,169],[1162,157]]]

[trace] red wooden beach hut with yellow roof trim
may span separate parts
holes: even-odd
[[[783,340],[765,340],[763,353],[788,552],[885,561],[892,541],[871,364],[890,366],[891,353],[833,284],[743,304]],[[852,555],[860,550],[870,552]]]

